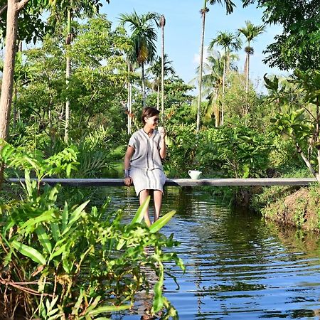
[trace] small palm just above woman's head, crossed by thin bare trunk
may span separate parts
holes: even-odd
[[[169,74],[174,75],[176,73],[171,63],[172,61],[168,61],[168,55],[164,55],[164,58],[162,57],[156,58],[154,60],[154,63],[147,70],[148,73],[150,73],[151,75],[154,75],[154,82],[157,88],[156,109],[158,110],[159,110],[159,100],[160,100],[160,82],[162,87],[162,82],[164,77],[166,77]],[[161,105],[161,112],[163,117],[164,110],[162,110],[162,105]]]

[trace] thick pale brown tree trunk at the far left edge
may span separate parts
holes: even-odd
[[[14,87],[14,63],[16,59],[16,38],[18,33],[18,4],[8,1],[6,16],[6,48],[0,98],[0,139],[6,140],[9,134],[12,92]],[[1,146],[0,146],[1,151]],[[0,189],[4,179],[4,164],[0,164]]]

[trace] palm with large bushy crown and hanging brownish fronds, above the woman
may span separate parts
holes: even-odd
[[[149,12],[147,14],[137,15],[134,11],[133,14],[121,14],[120,26],[129,23],[132,35],[132,51],[129,52],[128,58],[132,63],[138,63],[142,70],[142,103],[143,107],[146,104],[146,92],[144,83],[144,64],[150,63],[154,60],[156,55],[155,42],[157,39],[156,31],[153,22],[158,23],[159,14]]]

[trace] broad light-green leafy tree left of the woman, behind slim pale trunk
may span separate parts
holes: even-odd
[[[70,100],[70,137],[90,124],[125,126],[124,83],[132,77],[122,56],[128,45],[122,29],[112,31],[105,16],[75,24],[78,33],[68,54],[73,74],[65,83],[65,25],[57,24],[55,33],[44,38],[42,46],[23,52],[23,60],[32,68],[32,81],[18,84],[16,110],[26,124],[38,124],[39,131],[63,137],[64,105]]]

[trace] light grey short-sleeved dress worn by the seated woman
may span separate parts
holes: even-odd
[[[160,141],[161,136],[158,130],[154,130],[149,137],[144,129],[134,132],[129,139],[129,146],[134,148],[129,175],[134,183],[137,196],[145,189],[164,192],[166,175],[161,163]]]

